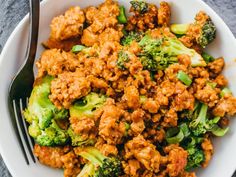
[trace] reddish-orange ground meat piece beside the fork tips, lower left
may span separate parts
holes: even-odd
[[[35,144],[34,146],[34,155],[39,159],[39,162],[53,167],[53,168],[63,168],[64,163],[61,159],[63,155],[65,155],[70,148],[68,146],[65,147],[47,147],[47,146],[39,146]]]

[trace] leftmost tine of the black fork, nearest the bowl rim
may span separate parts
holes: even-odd
[[[15,100],[12,101],[12,105],[13,105],[13,111],[14,111],[14,118],[15,118],[16,126],[17,126],[16,136],[18,137],[21,150],[23,151],[23,155],[24,155],[26,164],[29,165],[29,159],[27,157],[27,154],[26,154],[26,151],[25,151],[25,148],[24,148],[24,144],[23,144],[23,134],[21,132],[21,128],[20,128],[20,124],[19,124],[19,118],[18,118],[18,115],[17,115],[16,101]]]

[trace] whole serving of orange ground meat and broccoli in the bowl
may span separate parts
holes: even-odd
[[[55,17],[24,115],[42,164],[64,176],[195,176],[236,98],[205,12],[170,24],[166,2],[107,0]],[[159,7],[157,7],[159,6]]]

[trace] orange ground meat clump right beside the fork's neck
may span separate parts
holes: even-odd
[[[64,71],[75,71],[79,62],[72,53],[63,52],[59,49],[46,50],[37,61],[38,77],[45,74],[57,76]]]

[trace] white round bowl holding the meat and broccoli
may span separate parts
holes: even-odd
[[[82,8],[89,5],[97,5],[102,0],[44,0],[41,3],[40,29],[37,58],[43,51],[40,43],[49,36],[49,24],[51,19],[62,14],[73,5]],[[148,2],[159,4],[160,0]],[[224,56],[226,61],[225,76],[230,80],[230,88],[236,95],[236,40],[222,21],[222,19],[201,0],[168,0],[172,5],[172,21],[175,23],[191,22],[199,10],[207,12],[217,27],[217,39],[207,50],[215,57]],[[129,1],[120,0],[120,3],[129,7]],[[128,8],[126,8],[128,9]],[[27,37],[28,16],[16,27],[8,39],[0,57],[0,152],[13,177],[62,177],[62,170],[55,170],[37,164],[26,165],[19,144],[11,125],[7,95],[12,77],[24,60]],[[236,121],[231,121],[230,131],[223,138],[214,140],[215,154],[209,167],[200,169],[200,177],[231,177],[236,169]]]

